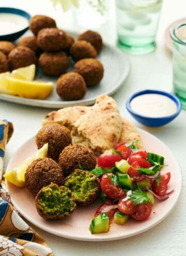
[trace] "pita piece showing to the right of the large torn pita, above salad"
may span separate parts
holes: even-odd
[[[141,135],[137,132],[136,128],[124,117],[121,117],[122,125],[121,125],[121,136],[119,142],[130,142],[130,141],[138,141],[135,145],[138,148],[143,148],[143,141]]]

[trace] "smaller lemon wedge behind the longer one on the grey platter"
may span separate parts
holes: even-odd
[[[32,64],[24,68],[18,68],[11,72],[11,77],[17,79],[23,79],[27,81],[33,81],[36,74],[36,65]]]

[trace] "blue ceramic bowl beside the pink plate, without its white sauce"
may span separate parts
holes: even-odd
[[[143,94],[161,94],[164,95],[170,99],[172,99],[177,106],[177,111],[173,114],[173,115],[169,115],[169,116],[163,116],[163,117],[148,117],[148,116],[144,116],[141,114],[136,113],[135,111],[133,111],[131,109],[130,103],[132,101],[133,98],[139,96],[139,95],[143,95]],[[158,126],[162,126],[162,125],[166,125],[169,122],[171,122],[181,111],[181,102],[180,100],[169,93],[163,92],[163,91],[156,91],[156,90],[144,90],[144,91],[140,91],[137,92],[135,94],[133,94],[126,102],[126,108],[129,111],[129,113],[141,124],[146,125],[146,126],[150,126],[150,127],[158,127]]]

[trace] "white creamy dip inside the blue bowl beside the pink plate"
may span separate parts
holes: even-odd
[[[177,111],[176,103],[161,94],[143,94],[132,99],[131,109],[138,114],[149,117],[172,115]]]

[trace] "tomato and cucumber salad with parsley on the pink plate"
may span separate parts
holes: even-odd
[[[121,142],[98,158],[91,171],[100,178],[104,201],[90,225],[92,234],[108,232],[111,222],[125,224],[129,218],[143,221],[152,212],[154,198],[168,199],[170,172],[161,174],[164,157],[138,149],[135,142]]]

